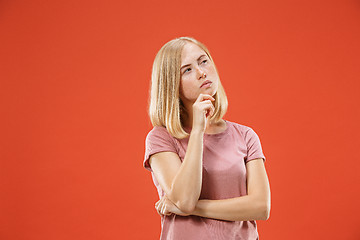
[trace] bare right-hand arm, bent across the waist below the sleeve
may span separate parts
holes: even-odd
[[[228,221],[267,220],[270,187],[262,158],[246,164],[248,195],[224,200],[199,200],[191,214]]]

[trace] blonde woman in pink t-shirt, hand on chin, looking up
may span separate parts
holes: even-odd
[[[181,37],[155,57],[144,167],[160,200],[160,239],[258,239],[270,188],[259,137],[223,120],[227,98],[199,41]]]

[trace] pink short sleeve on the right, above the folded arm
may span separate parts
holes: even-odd
[[[250,127],[246,132],[245,141],[247,146],[247,157],[245,159],[245,163],[257,158],[262,158],[265,162],[266,159],[261,148],[259,136]]]

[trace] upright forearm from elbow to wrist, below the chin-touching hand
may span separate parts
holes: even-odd
[[[200,197],[203,138],[203,132],[191,131],[184,161],[174,177],[168,196],[177,207],[185,212],[192,212]]]

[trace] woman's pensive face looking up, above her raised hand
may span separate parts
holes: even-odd
[[[194,43],[187,43],[182,50],[180,74],[180,98],[183,102],[195,102],[200,93],[214,96],[218,89],[219,76],[213,62]],[[211,83],[201,87],[207,80]]]

